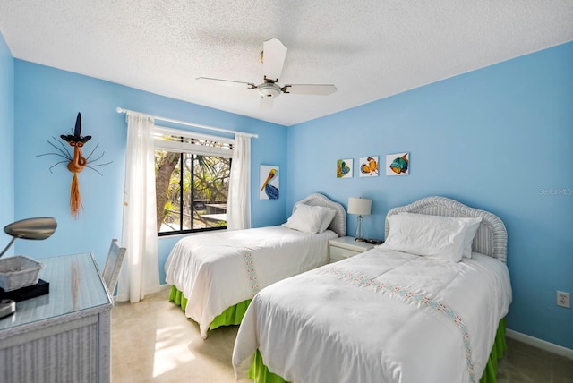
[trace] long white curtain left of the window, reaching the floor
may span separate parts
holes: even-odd
[[[150,115],[129,112],[125,152],[124,265],[117,301],[139,302],[159,291],[158,229],[155,201],[153,123]]]

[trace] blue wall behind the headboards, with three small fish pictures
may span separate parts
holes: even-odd
[[[359,157],[402,151],[410,175],[358,177]],[[291,127],[288,158],[288,204],[371,198],[367,237],[383,237],[388,209],[429,195],[501,217],[508,327],[573,349],[573,310],[555,305],[556,290],[573,293],[573,43]],[[339,158],[354,158],[354,178],[336,178]]]

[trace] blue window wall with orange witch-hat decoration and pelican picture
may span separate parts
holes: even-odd
[[[109,242],[113,237],[121,238],[122,226],[126,123],[125,115],[115,112],[116,106],[259,134],[258,139],[252,139],[252,225],[278,225],[286,221],[286,198],[259,200],[256,192],[259,165],[273,164],[286,169],[286,148],[277,145],[286,141],[284,126],[21,60],[15,60],[14,104],[15,216],[51,216],[58,222],[56,234],[46,241],[16,242],[18,253],[39,259],[93,251],[98,263],[103,265]],[[89,168],[78,175],[83,211],[74,221],[69,214],[72,173],[65,164],[60,164],[50,174],[48,168],[62,158],[38,155],[56,151],[47,140],[61,141],[60,134],[73,132],[78,112],[81,112],[82,135],[92,136],[82,149],[84,157],[99,144],[92,158],[105,152],[98,162],[113,162],[98,168],[103,176]],[[165,281],[163,264],[173,243],[174,238],[160,239],[162,283]]]

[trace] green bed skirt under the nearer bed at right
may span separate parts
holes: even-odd
[[[492,353],[490,353],[490,358],[485,365],[480,383],[497,382],[498,359],[503,357],[503,353],[505,353],[507,349],[508,345],[505,342],[505,318],[503,318],[500,320],[500,325],[495,335],[495,342],[492,347]],[[249,378],[254,379],[255,383],[286,383],[284,379],[270,372],[267,366],[264,365],[259,350],[257,350],[254,355],[254,361],[252,361],[251,370],[249,370]]]

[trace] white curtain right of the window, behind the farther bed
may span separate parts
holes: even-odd
[[[235,134],[227,198],[227,229],[251,228],[251,137]]]

